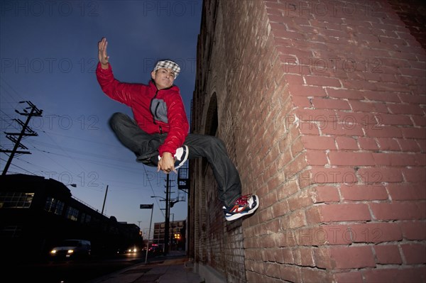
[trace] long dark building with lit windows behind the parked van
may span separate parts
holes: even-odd
[[[90,240],[98,254],[142,246],[136,224],[102,215],[74,199],[61,182],[26,174],[4,175],[0,182],[1,257],[45,257],[60,240],[71,238]]]

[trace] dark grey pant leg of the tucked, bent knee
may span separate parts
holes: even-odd
[[[166,134],[148,134],[124,113],[114,113],[109,125],[120,142],[135,153],[138,162],[157,166],[158,147],[163,144]]]

